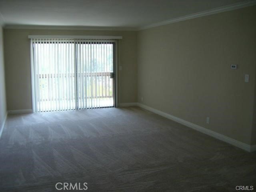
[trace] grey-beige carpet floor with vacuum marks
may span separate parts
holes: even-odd
[[[0,191],[73,191],[58,182],[89,192],[255,190],[256,153],[138,107],[8,115]]]

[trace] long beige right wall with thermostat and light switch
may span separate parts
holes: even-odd
[[[138,102],[255,144],[255,21],[251,6],[139,31]]]

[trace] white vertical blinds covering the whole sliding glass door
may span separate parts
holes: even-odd
[[[114,40],[31,42],[36,112],[114,106]]]

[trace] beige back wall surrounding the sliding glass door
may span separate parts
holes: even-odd
[[[32,109],[30,40],[28,35],[109,35],[120,40],[119,102],[137,101],[136,32],[92,30],[4,29],[8,110]]]

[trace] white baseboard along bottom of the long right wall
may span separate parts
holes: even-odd
[[[212,131],[212,130],[206,129],[206,128],[201,127],[201,126],[199,126],[199,125],[193,124],[193,123],[188,122],[188,121],[186,121],[186,120],[180,119],[180,118],[178,118],[178,117],[172,116],[172,115],[170,115],[170,114],[167,114],[167,113],[162,112],[162,111],[160,111],[160,110],[157,110],[157,109],[154,109],[154,108],[152,108],[152,107],[146,106],[146,105],[144,105],[144,104],[138,103],[137,105],[138,105],[139,107],[141,107],[141,108],[144,108],[144,109],[146,109],[146,110],[149,110],[149,111],[151,111],[151,112],[153,112],[153,113],[156,113],[156,114],[158,114],[158,115],[160,115],[160,116],[166,117],[166,118],[168,118],[168,119],[170,119],[170,120],[173,120],[173,121],[175,121],[175,122],[178,122],[178,123],[180,123],[180,124],[182,124],[182,125],[185,125],[185,126],[187,126],[187,127],[192,128],[192,129],[194,129],[194,130],[200,131],[200,132],[202,132],[202,133],[204,133],[204,134],[207,134],[207,135],[209,135],[209,136],[212,136],[212,137],[214,137],[214,138],[216,138],[216,139],[222,140],[222,141],[224,141],[224,142],[226,142],[226,143],[229,143],[229,144],[231,144],[231,145],[234,145],[234,146],[236,146],[236,147],[238,147],[238,148],[241,148],[241,149],[243,149],[243,150],[246,150],[246,151],[248,151],[248,152],[256,151],[256,145],[251,146],[251,145],[245,144],[245,143],[240,142],[240,141],[238,141],[238,140],[235,140],[235,139],[232,139],[232,138],[230,138],[230,137],[224,136],[224,135],[222,135],[222,134],[219,134],[219,133],[214,132],[214,131]]]

